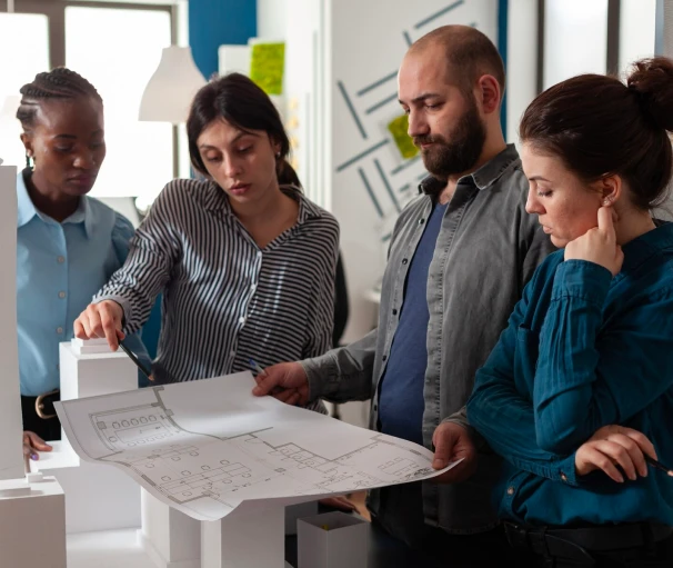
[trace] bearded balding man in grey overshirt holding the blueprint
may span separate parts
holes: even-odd
[[[371,399],[370,428],[434,451],[435,469],[463,458],[431,481],[368,497],[373,522],[446,566],[502,566],[510,554],[491,506],[499,458],[470,429],[464,405],[553,250],[525,212],[529,183],[504,141],[504,84],[495,46],[473,28],[438,28],[411,46],[399,100],[429,176],[395,223],[379,327],[322,357],[267,369],[254,390],[289,403]]]

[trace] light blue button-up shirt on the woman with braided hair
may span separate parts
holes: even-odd
[[[23,173],[17,197],[19,375],[21,395],[36,397],[59,388],[59,343],[72,339],[74,320],[123,265],[133,227],[90,197],[59,223],[36,209]],[[125,343],[150,366],[138,336]]]

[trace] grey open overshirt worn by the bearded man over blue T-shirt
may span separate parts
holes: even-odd
[[[311,398],[372,400],[370,428],[379,425],[379,385],[404,301],[404,282],[432,210],[425,193],[433,178],[400,215],[383,276],[379,327],[361,340],[302,362]],[[461,178],[442,220],[428,273],[428,367],[423,442],[444,420],[466,425],[464,405],[538,265],[554,250],[535,216],[525,212],[529,183],[513,145]],[[449,532],[483,531],[496,522],[491,489],[500,458],[480,449],[476,474],[455,485],[423,482],[425,522]],[[375,514],[379,494],[370,494]]]

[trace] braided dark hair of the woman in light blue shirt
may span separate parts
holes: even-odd
[[[17,110],[17,118],[24,131],[29,131],[34,126],[38,108],[46,100],[93,97],[101,103],[103,101],[96,88],[87,79],[64,67],[38,73],[34,80],[21,87],[19,92],[22,97],[19,110]]]

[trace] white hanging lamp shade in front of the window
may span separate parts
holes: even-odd
[[[194,94],[204,84],[190,48],[164,48],[159,67],[142,93],[138,118],[173,124],[184,122]]]

